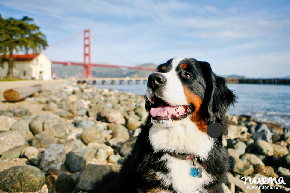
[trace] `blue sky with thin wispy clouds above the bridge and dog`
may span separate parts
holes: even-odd
[[[92,63],[191,57],[209,62],[218,75],[290,75],[289,0],[0,0],[0,14],[33,18],[49,45],[80,33],[48,47],[51,61],[83,62],[82,32],[91,29]]]

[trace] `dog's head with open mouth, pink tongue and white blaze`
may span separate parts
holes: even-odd
[[[225,78],[216,76],[207,62],[173,58],[148,77],[146,110],[153,124],[170,126],[187,117],[205,130],[224,119],[236,96]]]

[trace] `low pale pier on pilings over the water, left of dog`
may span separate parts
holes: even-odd
[[[78,83],[88,84],[147,84],[148,78],[78,78]]]

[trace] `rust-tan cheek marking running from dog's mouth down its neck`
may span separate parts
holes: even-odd
[[[202,113],[202,100],[193,94],[185,85],[183,85],[184,95],[186,97],[187,103],[193,104],[194,112],[190,120],[196,123],[196,126],[200,131],[207,133],[207,124],[205,123],[206,119],[203,118]]]

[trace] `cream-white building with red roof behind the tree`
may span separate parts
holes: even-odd
[[[13,75],[20,79],[51,79],[51,61],[43,54],[13,55]],[[8,58],[7,58],[8,59]],[[4,68],[0,67],[0,76],[8,73],[8,63],[4,62]]]

